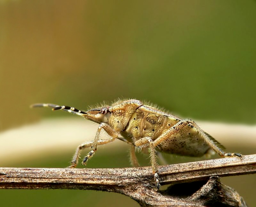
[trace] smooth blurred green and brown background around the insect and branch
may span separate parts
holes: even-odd
[[[181,117],[255,125],[255,19],[252,0],[0,0],[0,130],[68,116],[31,111],[32,103],[86,109],[118,97],[148,100]],[[255,153],[255,146],[233,149]],[[126,152],[106,153],[90,167],[129,166]],[[65,167],[72,153],[48,156],[10,166]],[[255,190],[246,191],[255,175],[223,182],[255,205]],[[122,195],[78,190],[0,190],[0,200],[138,206]]]

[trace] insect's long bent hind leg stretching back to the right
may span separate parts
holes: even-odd
[[[222,149],[220,149],[213,141],[210,139],[207,134],[191,119],[182,119],[180,122],[174,124],[170,129],[165,131],[162,135],[160,135],[157,139],[154,140],[154,146],[157,146],[158,144],[163,143],[165,140],[167,140],[169,137],[171,137],[174,134],[177,134],[180,132],[180,130],[190,125],[191,127],[195,127],[195,129],[198,131],[201,138],[204,139],[204,142],[208,144],[215,152],[217,152],[221,157],[240,157],[243,156],[239,153],[225,153]]]

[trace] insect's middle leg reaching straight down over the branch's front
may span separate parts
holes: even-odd
[[[159,176],[158,176],[158,164],[156,162],[156,150],[154,146],[154,141],[152,140],[151,137],[143,137],[135,142],[135,146],[139,148],[143,148],[145,146],[149,147],[150,150],[150,162],[154,174],[154,179],[156,181],[156,188],[160,188],[160,183],[159,183]]]

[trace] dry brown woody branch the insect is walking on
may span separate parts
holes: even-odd
[[[0,189],[103,190],[130,196],[141,206],[205,206],[205,203],[212,203],[218,199],[222,199],[220,201],[222,204],[228,202],[226,206],[246,206],[236,191],[222,185],[216,176],[253,173],[256,173],[256,154],[246,155],[243,159],[211,159],[161,166],[159,167],[160,183],[177,185],[157,192],[152,187],[154,180],[151,167],[108,169],[0,167]],[[182,195],[179,195],[177,190],[180,187],[183,189]],[[230,202],[235,204],[231,205]]]

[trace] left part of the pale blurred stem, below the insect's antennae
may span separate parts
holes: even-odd
[[[73,153],[79,144],[94,139],[97,127],[98,124],[88,120],[57,118],[4,131],[0,133],[1,166],[63,151]],[[107,133],[101,133],[100,137],[107,138]],[[103,147],[114,147],[120,142],[117,140]]]

